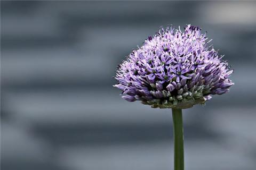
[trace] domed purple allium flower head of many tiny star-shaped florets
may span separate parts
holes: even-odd
[[[234,84],[228,79],[233,70],[207,39],[196,26],[161,28],[118,65],[114,87],[125,100],[153,108],[189,108],[225,94]]]

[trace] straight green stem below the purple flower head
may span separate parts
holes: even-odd
[[[172,109],[174,170],[184,170],[183,122],[181,109]]]

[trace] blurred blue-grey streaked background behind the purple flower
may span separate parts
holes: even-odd
[[[190,170],[256,167],[256,2],[1,1],[1,169],[173,168],[170,109],[128,103],[116,65],[159,26],[200,25],[234,87],[183,111]]]

